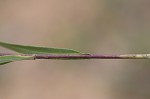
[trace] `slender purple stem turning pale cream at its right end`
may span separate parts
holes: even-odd
[[[0,53],[0,56],[5,55],[22,55],[33,56],[34,59],[150,59],[150,54],[11,54]]]

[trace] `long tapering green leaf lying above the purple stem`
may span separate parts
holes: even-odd
[[[25,46],[25,45],[17,45],[0,42],[0,46],[5,47],[7,49],[23,53],[23,54],[79,54],[80,52],[71,50],[71,49],[63,49],[63,48],[47,48],[47,47],[35,47],[35,46]]]

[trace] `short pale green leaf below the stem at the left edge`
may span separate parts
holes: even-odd
[[[0,56],[0,65],[4,65],[14,61],[21,61],[21,60],[33,60],[34,56],[21,56],[21,55],[6,55]]]

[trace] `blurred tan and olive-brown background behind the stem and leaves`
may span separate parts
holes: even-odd
[[[0,40],[84,53],[146,54],[149,10],[149,0],[0,0]],[[0,98],[150,99],[149,65],[149,60],[14,62],[0,67]]]

